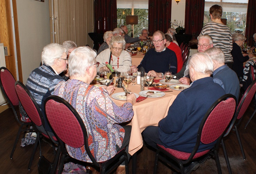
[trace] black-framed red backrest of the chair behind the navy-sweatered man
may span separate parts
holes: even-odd
[[[235,108],[236,97],[232,94],[226,94],[220,97],[211,105],[201,121],[197,133],[196,145],[188,160],[193,159],[199,148],[200,142],[209,144],[218,140],[216,147],[219,146],[224,131],[234,116]]]

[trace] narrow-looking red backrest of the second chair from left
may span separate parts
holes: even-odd
[[[26,88],[26,86],[22,82],[16,81],[15,89],[18,98],[29,118],[36,126],[40,127],[42,125],[42,113],[40,112],[40,108],[32,97],[28,88]]]

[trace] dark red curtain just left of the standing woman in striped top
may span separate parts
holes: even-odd
[[[196,39],[203,28],[204,0],[186,0],[185,29]]]

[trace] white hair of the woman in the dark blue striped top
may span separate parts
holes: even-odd
[[[46,45],[41,55],[42,64],[46,66],[54,65],[55,59],[61,58],[63,53],[68,55],[68,48],[56,43]]]

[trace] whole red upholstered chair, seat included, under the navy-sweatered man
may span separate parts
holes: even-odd
[[[225,130],[234,116],[235,107],[236,98],[232,94],[226,94],[212,104],[201,121],[197,133],[195,147],[191,153],[181,152],[158,145],[160,149],[156,151],[154,174],[157,172],[158,159],[170,164],[170,166],[176,171],[184,174],[184,166],[199,160],[199,157],[207,157],[208,155],[215,156],[218,173],[221,173],[217,150]],[[212,149],[197,152],[200,142],[203,144],[209,144],[215,140],[217,141]]]

